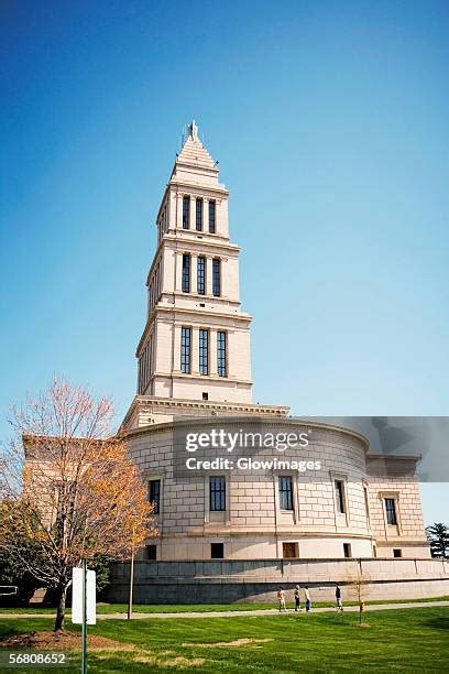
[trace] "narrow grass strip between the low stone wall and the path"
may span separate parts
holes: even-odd
[[[431,597],[425,599],[394,599],[394,600],[372,600],[366,601],[366,606],[373,604],[413,604],[415,601],[449,601],[449,596],[445,597]],[[287,606],[293,608],[293,602],[287,602]],[[344,601],[344,606],[357,606],[357,601]],[[314,607],[333,607],[331,601],[314,601]],[[277,605],[272,604],[135,604],[133,606],[134,613],[188,613],[190,611],[197,613],[205,613],[207,611],[252,611],[252,610],[267,610],[277,608]],[[98,613],[125,613],[128,611],[127,604],[99,604],[97,605]],[[33,613],[48,613],[53,616],[55,609],[51,607],[29,606],[20,608],[0,608],[0,615],[8,613],[24,613],[32,616]],[[70,613],[70,609],[67,609],[67,615]]]

